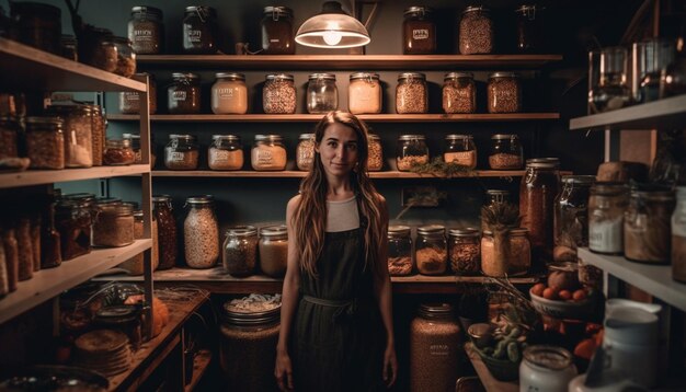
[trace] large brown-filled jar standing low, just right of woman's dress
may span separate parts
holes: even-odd
[[[422,303],[410,324],[410,391],[451,391],[462,338],[449,303]]]

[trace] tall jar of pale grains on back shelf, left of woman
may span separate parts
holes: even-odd
[[[219,223],[211,196],[186,198],[183,244],[191,268],[211,268],[219,258]]]

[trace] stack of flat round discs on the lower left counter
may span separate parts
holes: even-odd
[[[91,331],[79,336],[75,346],[75,365],[95,370],[106,377],[128,370],[132,362],[128,337],[118,331]]]

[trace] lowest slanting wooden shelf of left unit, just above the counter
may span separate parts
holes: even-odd
[[[124,247],[96,249],[87,255],[64,262],[59,267],[36,272],[32,279],[20,281],[16,291],[0,300],[0,323],[117,266],[150,249],[151,243],[151,240],[138,240]]]

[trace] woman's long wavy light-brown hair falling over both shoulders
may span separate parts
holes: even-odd
[[[381,221],[381,217],[385,214],[379,208],[379,194],[374,184],[371,184],[367,173],[367,155],[369,151],[367,127],[351,113],[329,112],[319,122],[315,130],[317,146],[321,143],[327,127],[335,123],[352,128],[355,135],[357,135],[357,165],[356,170],[351,172],[350,181],[358,198],[361,216],[367,221],[364,228],[365,268],[370,264],[375,267],[373,270],[376,270],[376,266],[381,262],[378,260],[377,250],[384,243],[387,233],[384,232],[385,226]],[[312,277],[317,276],[317,260],[324,246],[328,185],[319,152],[315,151],[312,169],[300,183],[300,203],[291,218],[291,223],[296,229],[295,240],[296,244],[298,244],[296,255],[300,268]],[[363,224],[362,221],[361,224]],[[305,230],[306,228],[308,229]]]

